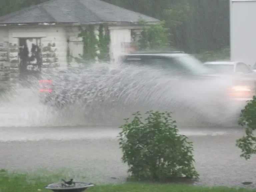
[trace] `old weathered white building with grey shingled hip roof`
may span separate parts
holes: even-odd
[[[140,28],[136,24],[139,19],[149,24],[159,22],[100,0],[50,0],[2,16],[0,81],[17,81],[21,72],[19,47],[24,40],[31,42],[29,51],[32,43],[41,48],[40,70],[62,68],[67,66],[68,49],[74,57],[83,53],[78,27],[94,25],[97,33],[99,25],[104,24],[110,33],[110,55],[115,59],[123,51],[122,44],[131,42],[131,29]]]

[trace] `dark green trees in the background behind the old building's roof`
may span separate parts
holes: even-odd
[[[47,0],[1,0],[0,15]],[[229,46],[229,0],[104,0],[166,21],[173,47],[190,52]]]

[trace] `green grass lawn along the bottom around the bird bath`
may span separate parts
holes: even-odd
[[[57,178],[57,179],[56,179]],[[45,176],[8,173],[0,170],[0,192],[51,192],[44,189],[44,186],[52,182],[58,182],[61,175],[51,174]],[[86,181],[86,180],[85,180]],[[228,187],[205,187],[194,185],[176,185],[176,184],[143,184],[126,183],[119,185],[99,185],[87,189],[88,192],[249,192],[246,188],[228,188]]]

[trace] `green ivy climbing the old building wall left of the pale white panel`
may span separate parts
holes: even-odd
[[[79,31],[78,37],[82,37],[83,42],[83,55],[80,57],[83,60],[94,60],[96,57],[101,60],[108,58],[110,38],[107,26],[100,25],[99,40],[96,38],[94,25],[88,25],[85,29],[80,27]],[[97,50],[100,51],[99,54]]]

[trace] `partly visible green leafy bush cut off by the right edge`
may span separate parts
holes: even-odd
[[[256,154],[256,137],[253,134],[256,129],[256,97],[248,101],[241,112],[238,124],[246,127],[245,135],[236,140],[236,146],[242,150],[240,156],[248,160],[251,155]]]

